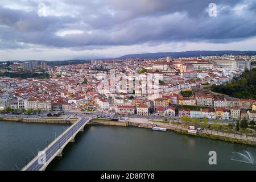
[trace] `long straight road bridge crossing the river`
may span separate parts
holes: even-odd
[[[90,121],[91,118],[80,118],[79,121],[75,122],[73,125],[68,127],[62,134],[59,135],[52,143],[48,144],[44,148],[45,160],[42,163],[42,156],[37,155],[34,159],[31,160],[25,167],[22,168],[22,171],[44,171],[49,163],[56,156],[62,156],[62,151],[67,146],[69,142],[74,142],[75,137],[79,131],[83,131],[85,125]]]

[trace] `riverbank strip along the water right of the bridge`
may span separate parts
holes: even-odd
[[[187,130],[185,130],[179,126],[175,126],[175,125],[168,126],[168,125],[164,125],[163,123],[157,123],[157,122],[154,122],[154,123],[159,127],[164,127],[167,130],[172,130],[179,134],[191,135],[191,134],[188,134]],[[136,127],[146,128],[146,129],[152,129],[152,125],[149,125],[146,123],[115,122],[115,121],[110,121],[108,119],[92,119],[89,122],[89,124],[90,125],[109,125],[109,126],[136,126]],[[224,137],[224,136],[218,136],[218,135],[209,134],[209,133],[197,132],[197,134],[195,136],[208,138],[208,139],[212,139],[212,140],[221,140],[221,141],[225,141],[225,142],[239,143],[239,144],[249,145],[249,146],[256,146],[256,142],[251,141],[251,140],[238,139],[238,138],[232,138],[232,137]]]

